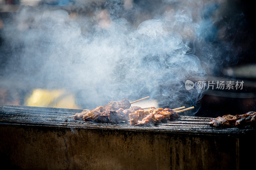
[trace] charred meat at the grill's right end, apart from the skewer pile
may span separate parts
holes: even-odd
[[[242,115],[224,115],[211,119],[210,126],[215,128],[242,127],[256,125],[256,112],[248,112]]]

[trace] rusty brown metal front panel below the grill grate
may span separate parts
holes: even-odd
[[[22,169],[236,169],[236,139],[0,124],[3,164]]]

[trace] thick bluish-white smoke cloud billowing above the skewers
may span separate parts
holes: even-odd
[[[219,54],[200,34],[202,11],[212,2],[100,3],[75,1],[72,10],[84,12],[76,16],[45,5],[21,7],[3,26],[1,55],[10,57],[1,86],[65,88],[84,108],[150,96],[159,106],[197,106],[195,113],[203,91],[184,83],[205,80],[216,65]]]

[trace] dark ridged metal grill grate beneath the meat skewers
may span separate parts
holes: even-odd
[[[119,124],[94,123],[76,121],[68,116],[79,113],[80,109],[48,108],[48,107],[27,107],[27,106],[0,106],[0,123],[22,124],[22,125],[43,125],[43,126],[64,126],[70,128],[98,128],[98,129],[121,129],[121,130],[143,130],[167,133],[191,133],[205,135],[228,135],[242,136],[248,133],[255,133],[254,128],[236,127],[228,129],[215,129],[209,126],[211,118],[180,116],[175,121],[159,123],[155,127],[135,127],[128,122]]]

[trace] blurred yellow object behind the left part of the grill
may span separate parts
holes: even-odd
[[[76,106],[74,95],[66,92],[64,89],[34,89],[32,94],[25,101],[25,105],[80,109],[80,107]]]

